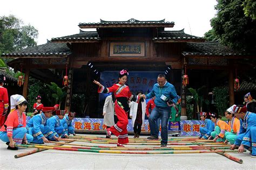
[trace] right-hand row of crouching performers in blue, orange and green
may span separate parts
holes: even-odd
[[[244,96],[244,100],[252,96],[250,93]],[[249,100],[248,100],[249,101]],[[252,108],[252,107],[250,107]],[[254,108],[253,108],[254,109]],[[232,105],[225,111],[228,123],[222,121],[217,113],[200,112],[200,118],[204,121],[204,127],[200,127],[200,139],[213,139],[215,142],[231,144],[231,150],[238,148],[238,152],[244,149],[251,151],[252,157],[256,157],[256,114],[247,110],[247,105]],[[210,119],[208,119],[210,118]]]

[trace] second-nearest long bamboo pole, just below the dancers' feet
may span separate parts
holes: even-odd
[[[86,147],[100,147],[100,148],[120,148],[118,146],[102,146],[102,145],[85,145],[85,144],[68,144],[68,143],[62,143],[59,141],[50,141],[50,143],[59,143],[59,144],[64,144],[64,145],[72,145],[72,146],[86,146]],[[224,146],[230,146],[230,145],[211,145],[211,146],[204,146],[204,147],[224,147]],[[146,148],[146,147],[136,147],[136,146],[125,146],[126,148]],[[184,146],[167,146],[166,148],[187,148],[187,147],[193,147],[193,148],[197,148],[200,146],[190,146],[190,145],[184,145]],[[159,146],[151,146],[150,148],[162,148]]]

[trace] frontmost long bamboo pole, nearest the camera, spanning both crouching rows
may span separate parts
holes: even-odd
[[[50,147],[50,146],[36,146],[36,145],[16,145],[18,147],[30,147],[30,148],[45,148],[49,150],[60,150],[60,151],[77,151],[77,152],[94,152],[94,153],[117,153],[117,154],[181,154],[181,153],[218,153],[218,152],[237,152],[232,150],[199,150],[199,151],[140,151],[140,152],[132,152],[132,151],[110,151],[110,150],[86,150],[79,148],[59,148],[59,147]]]

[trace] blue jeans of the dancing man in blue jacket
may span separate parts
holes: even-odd
[[[161,119],[161,144],[167,144],[168,141],[168,130],[167,124],[171,115],[171,108],[155,107],[149,117],[150,133],[153,137],[158,137],[157,131],[157,119]]]

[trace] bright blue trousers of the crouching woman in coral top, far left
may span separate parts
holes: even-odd
[[[28,140],[28,143],[31,143],[33,137],[30,134],[26,133],[26,128],[24,127],[14,129],[14,131],[12,131],[12,139],[15,141],[16,144],[21,144],[25,134],[26,140]],[[8,142],[9,139],[7,136],[7,132],[0,132],[0,139],[4,142]]]

